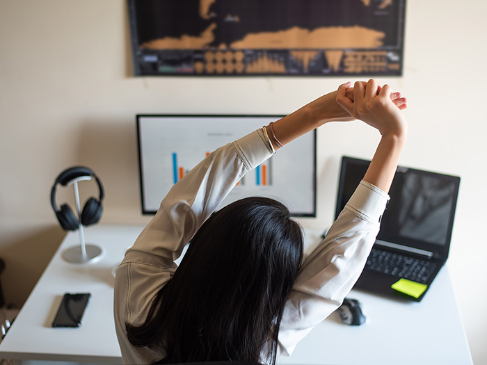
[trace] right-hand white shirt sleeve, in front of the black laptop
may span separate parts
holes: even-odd
[[[365,266],[389,196],[361,181],[296,279],[279,331],[282,355],[340,307]]]

